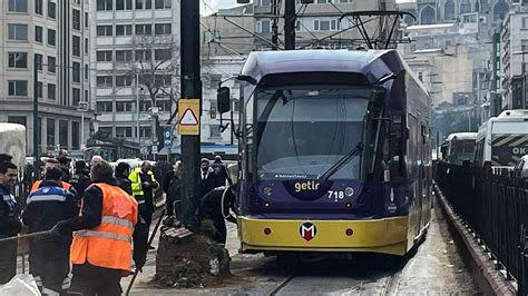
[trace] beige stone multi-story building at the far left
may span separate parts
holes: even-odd
[[[39,152],[80,149],[90,118],[88,1],[4,0],[0,28],[0,121],[27,127],[32,155],[37,88]]]

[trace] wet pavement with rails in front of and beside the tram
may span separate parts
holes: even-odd
[[[157,245],[157,238],[154,246]],[[457,251],[439,207],[424,241],[400,264],[385,256],[283,264],[274,257],[237,254],[236,227],[228,224],[233,277],[217,287],[169,289],[151,284],[156,250],[148,254],[130,295],[472,295],[479,294]],[[397,266],[398,265],[398,266]],[[399,268],[398,268],[399,267]],[[131,277],[121,280],[126,290]]]

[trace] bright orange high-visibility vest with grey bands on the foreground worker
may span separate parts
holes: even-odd
[[[74,233],[71,263],[88,262],[94,266],[130,272],[137,201],[117,186],[104,182],[91,186],[97,186],[102,191],[101,224]]]

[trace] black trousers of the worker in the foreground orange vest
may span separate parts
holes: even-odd
[[[120,276],[100,275],[97,278],[88,278],[74,274],[68,295],[118,296],[123,293],[120,280]]]

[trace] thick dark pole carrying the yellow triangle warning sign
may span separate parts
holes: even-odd
[[[199,99],[202,116],[202,80],[199,68],[199,1],[180,2],[180,63],[182,99]],[[199,135],[182,136],[184,159],[182,218],[186,226],[197,226],[198,208]]]

